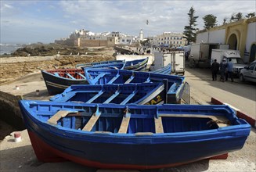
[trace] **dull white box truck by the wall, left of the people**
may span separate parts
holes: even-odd
[[[217,43],[199,43],[190,47],[189,66],[190,67],[210,67],[212,49],[228,49],[229,45]]]

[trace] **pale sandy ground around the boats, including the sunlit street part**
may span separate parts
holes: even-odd
[[[233,84],[223,84],[218,81],[214,82],[211,81],[211,76],[209,76],[208,74],[209,73],[207,72],[201,73],[200,70],[197,71],[188,69],[186,71],[186,81],[190,84],[192,104],[208,104],[211,101],[211,96],[216,96],[217,98],[219,98],[218,96],[220,96],[224,100],[224,102],[228,102],[233,106],[235,103],[237,103],[238,106],[236,107],[242,109],[243,102],[247,101],[247,103],[245,103],[247,104],[247,106],[245,106],[244,108],[247,110],[246,113],[250,113],[251,116],[255,116],[254,106],[256,98],[253,98],[254,91],[251,91],[251,94],[247,94],[243,92],[240,93],[240,90],[238,90],[239,88],[245,87],[247,88],[247,91],[250,91],[254,89],[254,86],[251,86],[250,84],[240,84],[238,81]],[[236,84],[238,84],[239,86],[236,86]],[[19,85],[19,90],[16,90],[16,85]],[[22,94],[23,99],[46,100],[50,98],[50,96],[47,94],[45,83],[42,80],[40,73],[34,73],[30,76],[21,78],[19,81],[0,85],[0,88],[1,91],[9,92],[14,95]],[[39,90],[39,95],[36,95],[36,90]],[[238,92],[235,94],[235,91]],[[223,96],[223,94],[225,96]],[[239,100],[235,101],[235,99]],[[9,128],[6,124],[0,124],[0,127]],[[13,131],[12,127],[9,128],[9,131]],[[0,171],[113,171],[93,169],[72,162],[38,162],[36,156],[34,155],[31,142],[27,136],[27,130],[20,132],[22,136],[22,142],[14,142],[14,137],[12,133],[6,136],[5,139],[0,143]],[[252,128],[251,134],[247,138],[243,149],[236,152],[230,152],[228,159],[205,159],[199,162],[189,163],[180,167],[147,171],[256,171],[255,143],[256,130]]]

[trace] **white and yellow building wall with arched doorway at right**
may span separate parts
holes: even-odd
[[[256,17],[197,32],[196,43],[228,44],[230,49],[240,50],[244,62],[256,59]]]

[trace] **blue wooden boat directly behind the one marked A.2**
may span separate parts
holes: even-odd
[[[85,70],[89,84],[129,84],[167,81],[166,103],[180,103],[185,77],[130,70]]]

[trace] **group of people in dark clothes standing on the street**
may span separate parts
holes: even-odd
[[[222,59],[222,63],[219,64],[217,59],[215,59],[215,62],[211,64],[212,81],[217,81],[217,73],[220,71],[220,81],[228,81],[230,77],[233,82],[233,63],[231,60],[232,59],[229,59],[227,63],[226,59]]]

